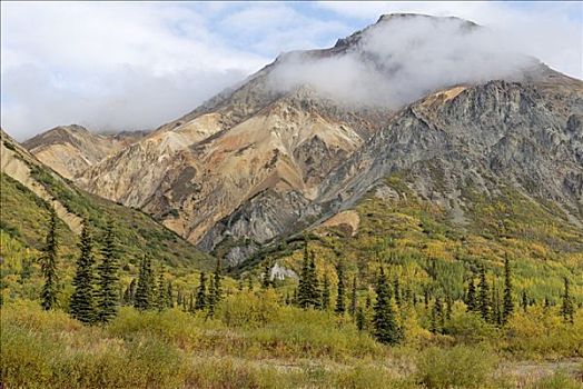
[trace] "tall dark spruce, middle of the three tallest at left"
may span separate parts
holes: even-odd
[[[79,242],[80,255],[72,280],[75,287],[69,303],[70,315],[83,323],[92,323],[97,319],[93,302],[93,248],[87,221],[83,222]]]

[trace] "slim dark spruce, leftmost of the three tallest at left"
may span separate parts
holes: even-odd
[[[42,257],[40,258],[40,268],[45,283],[40,295],[41,306],[45,310],[53,309],[57,306],[57,293],[59,290],[57,276],[59,240],[57,238],[57,213],[51,207],[49,231],[42,248]]]

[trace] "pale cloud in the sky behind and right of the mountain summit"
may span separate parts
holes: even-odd
[[[467,19],[497,31],[501,43],[517,47],[565,74],[583,78],[583,9],[577,1],[320,1],[317,7],[368,22],[393,12]]]

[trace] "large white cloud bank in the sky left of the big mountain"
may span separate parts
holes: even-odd
[[[2,2],[2,128],[155,128],[258,70],[181,3]]]

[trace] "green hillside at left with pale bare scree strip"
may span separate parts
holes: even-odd
[[[45,243],[49,206],[60,220],[61,252],[72,263],[77,256],[77,235],[82,219],[96,229],[97,238],[108,220],[115,225],[123,251],[123,263],[136,265],[144,256],[161,260],[172,268],[210,268],[210,256],[158,225],[139,210],[122,207],[78,189],[67,179],[46,167],[37,158],[0,131],[1,151],[1,243],[4,260],[21,247],[40,249]],[[19,258],[20,260],[21,258]]]

